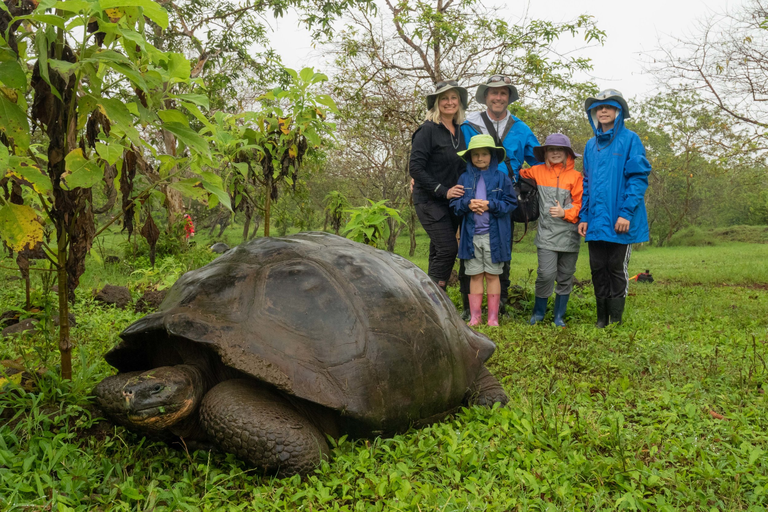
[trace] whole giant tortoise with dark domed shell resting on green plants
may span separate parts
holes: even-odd
[[[181,276],[104,357],[114,421],[306,474],[325,434],[392,435],[505,403],[495,345],[408,260],[326,233],[243,243]]]

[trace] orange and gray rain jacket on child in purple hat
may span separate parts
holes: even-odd
[[[550,249],[564,253],[578,253],[578,213],[581,210],[581,193],[584,192],[584,178],[574,167],[573,157],[568,157],[564,168],[558,164],[551,169],[539,164],[521,169],[520,176],[536,181],[538,189],[538,228],[533,243],[539,249]],[[564,218],[553,217],[549,209],[560,202],[565,210]]]

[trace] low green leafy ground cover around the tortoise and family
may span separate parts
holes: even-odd
[[[179,268],[164,279],[212,259],[203,246],[169,259]],[[407,248],[402,239],[399,253]],[[422,267],[426,253],[420,237],[413,259]],[[514,259],[516,284],[529,291],[530,244],[519,244]],[[624,325],[592,327],[584,284],[569,304],[568,329],[527,325],[525,311],[483,329],[498,344],[489,366],[505,384],[507,407],[464,409],[392,439],[340,439],[333,460],[303,480],[263,476],[231,456],[148,442],[99,420],[88,396],[111,372],[101,354],[139,315],[98,306],[90,288],[135,282],[143,267],[94,264],[73,309],[74,380],[41,370],[34,390],[11,385],[0,396],[0,508],[765,510],[766,260],[761,244],[638,249],[631,272],[649,268],[658,282],[631,285]],[[24,289],[3,272],[5,310],[23,302]],[[35,279],[35,303],[50,308],[55,296]],[[451,295],[458,299],[456,289]],[[520,293],[518,305],[526,298]],[[20,356],[30,369],[55,368],[55,336],[43,325],[0,343],[0,358]]]

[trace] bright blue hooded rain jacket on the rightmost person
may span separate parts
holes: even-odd
[[[619,109],[613,129],[605,133],[598,130],[598,121],[592,115],[592,109],[604,104]],[[579,212],[581,222],[588,223],[586,240],[647,242],[644,197],[650,163],[645,147],[634,131],[624,127],[624,112],[617,101],[592,104],[587,116],[594,137],[584,148],[584,195]],[[630,222],[627,233],[619,234],[614,229],[620,216]]]

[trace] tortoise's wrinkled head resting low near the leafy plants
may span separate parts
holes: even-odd
[[[128,379],[123,386],[123,405],[131,423],[159,430],[196,411],[203,394],[197,368],[161,366]]]

